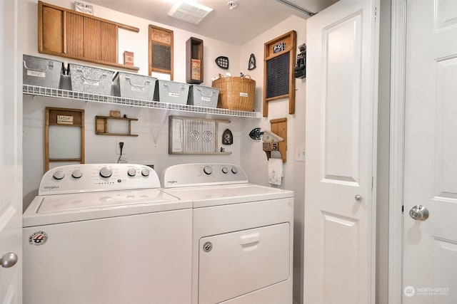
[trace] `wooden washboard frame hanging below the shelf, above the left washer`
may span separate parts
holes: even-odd
[[[80,157],[49,157],[49,126],[51,125],[81,128],[81,150],[79,151]],[[49,164],[51,162],[80,162],[81,164],[84,164],[84,138],[84,110],[46,107],[44,120],[44,170],[49,170]],[[64,140],[71,139],[65,138]],[[62,145],[66,144],[66,142],[62,142]]]

